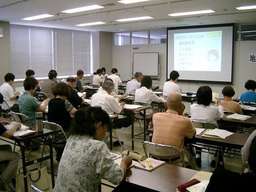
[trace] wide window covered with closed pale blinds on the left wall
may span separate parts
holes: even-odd
[[[85,74],[91,70],[90,32],[46,27],[10,26],[11,69],[24,78],[27,69],[36,77],[47,77],[49,70],[59,75]]]

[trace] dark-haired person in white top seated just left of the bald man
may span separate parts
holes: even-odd
[[[151,103],[155,102],[164,102],[164,98],[161,96],[155,95],[155,93],[151,90],[152,87],[152,79],[150,76],[144,76],[141,80],[141,88],[135,91],[135,101],[145,101]],[[158,109],[155,112],[159,112]],[[146,114],[152,114],[151,109],[146,110]]]

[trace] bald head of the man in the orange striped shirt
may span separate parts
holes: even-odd
[[[168,109],[172,109],[179,113],[181,110],[181,95],[176,91],[169,93],[166,105]]]

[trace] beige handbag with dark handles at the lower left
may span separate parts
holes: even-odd
[[[16,192],[25,192],[23,171],[20,172],[21,169],[22,168],[19,169],[16,175]],[[32,182],[35,183],[41,190],[47,190],[50,188],[45,165],[27,171],[28,192],[34,192],[34,190],[30,187],[30,183]]]

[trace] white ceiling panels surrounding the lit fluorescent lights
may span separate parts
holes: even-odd
[[[60,12],[87,5],[105,5],[106,7],[72,14]],[[255,9],[247,11],[235,9],[235,7],[245,5],[256,5],[256,0],[149,0],[133,4],[122,4],[118,3],[117,0],[0,0],[0,21],[29,26],[105,32],[132,32],[165,27],[233,22],[256,23]],[[170,13],[208,9],[216,12],[192,16],[167,16]],[[41,14],[55,16],[35,21],[21,20],[25,17]],[[152,16],[154,18],[143,21],[115,21],[138,16]],[[89,27],[75,26],[80,23],[96,21],[103,21],[106,24]]]

